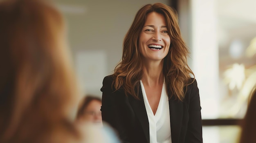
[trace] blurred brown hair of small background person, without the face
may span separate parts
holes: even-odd
[[[81,103],[81,106],[79,107],[79,110],[77,112],[76,118],[78,119],[84,114],[84,110],[87,108],[87,106],[91,103],[91,101],[96,100],[101,103],[101,99],[99,97],[95,97],[93,95],[86,95]]]

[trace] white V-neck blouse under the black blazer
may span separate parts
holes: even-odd
[[[150,143],[171,143],[171,123],[169,101],[166,94],[165,83],[162,87],[162,93],[157,111],[154,115],[146,96],[146,91],[142,81],[140,81],[144,104],[148,114],[149,123],[149,141]]]

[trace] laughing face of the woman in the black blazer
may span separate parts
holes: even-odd
[[[168,35],[164,15],[148,13],[139,36],[139,52],[144,60],[162,60],[168,54],[171,38]]]

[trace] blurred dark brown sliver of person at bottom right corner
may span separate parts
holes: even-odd
[[[247,112],[242,121],[242,132],[240,134],[239,143],[256,143],[256,87],[252,92]]]

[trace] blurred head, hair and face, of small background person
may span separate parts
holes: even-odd
[[[85,96],[79,106],[77,121],[102,125],[101,99],[92,95]]]

